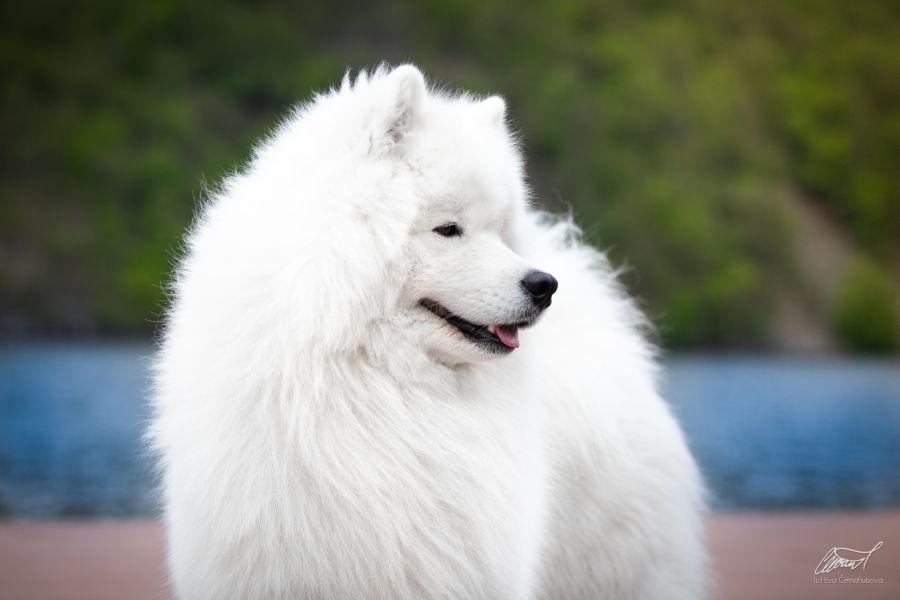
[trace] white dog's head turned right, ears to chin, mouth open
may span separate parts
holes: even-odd
[[[550,306],[557,282],[517,253],[526,211],[522,160],[499,97],[428,94],[414,67],[395,86],[392,152],[417,210],[400,305],[427,350],[448,362],[512,352]]]

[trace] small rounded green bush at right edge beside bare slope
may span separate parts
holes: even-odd
[[[841,286],[834,327],[841,341],[862,352],[889,352],[900,346],[895,291],[890,274],[872,262],[854,265]]]

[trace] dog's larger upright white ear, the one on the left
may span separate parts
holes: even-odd
[[[372,150],[380,152],[400,145],[421,118],[425,102],[425,77],[413,65],[401,65],[382,81]]]

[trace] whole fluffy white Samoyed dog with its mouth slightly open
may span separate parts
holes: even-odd
[[[642,323],[529,206],[502,99],[345,77],[187,238],[150,432],[176,595],[704,597]]]

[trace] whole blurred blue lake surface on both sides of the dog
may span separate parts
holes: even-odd
[[[0,517],[156,511],[141,344],[0,346]],[[900,506],[900,363],[676,357],[664,393],[719,509]]]

